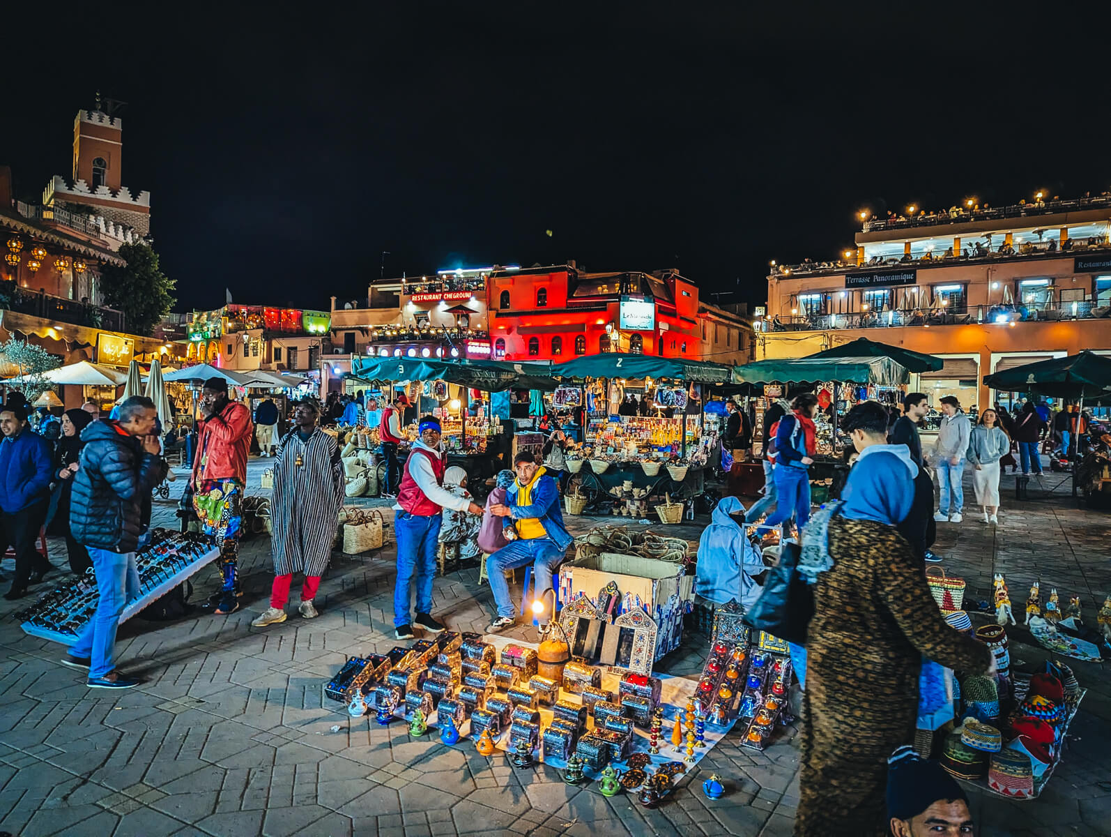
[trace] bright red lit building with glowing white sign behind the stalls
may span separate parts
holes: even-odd
[[[702,352],[698,288],[673,270],[587,273],[574,262],[498,270],[487,293],[494,359]]]

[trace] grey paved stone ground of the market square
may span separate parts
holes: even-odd
[[[258,485],[266,465],[252,460],[249,485]],[[1098,604],[1111,592],[1111,518],[1078,510],[1062,490],[1050,499],[1019,505],[1004,497],[1003,502],[998,530],[971,517],[960,526],[941,525],[937,548],[948,557],[944,566],[968,578],[970,599],[988,598],[992,574],[1005,572],[1017,612],[1027,585],[1040,578],[1043,594],[1055,585],[1062,602],[1081,595],[1085,619],[1094,624]],[[156,522],[173,526],[172,514],[172,502],[156,502]],[[574,525],[582,530],[599,522],[580,518]],[[687,537],[697,538],[702,525],[684,527]],[[60,542],[52,540],[51,552],[56,565],[64,564]],[[740,747],[734,731],[664,805],[648,811],[629,795],[607,799],[594,785],[569,788],[542,765],[513,770],[503,757],[479,756],[469,741],[449,748],[431,736],[410,739],[400,723],[383,729],[369,717],[350,719],[323,700],[321,686],[347,655],[396,645],[392,550],[337,555],[318,595],[320,618],[303,621],[294,615],[262,630],[250,620],[267,606],[269,539],[246,541],[241,555],[240,612],[173,624],[134,619],[121,628],[121,668],[144,685],[119,695],[86,689],[80,676],[57,665],[62,648],[23,635],[7,618],[18,608],[0,602],[0,831],[26,837],[791,833],[799,798],[793,727],[762,754]],[[481,630],[488,622],[489,588],[477,581],[477,569],[437,579],[437,612],[450,627]],[[194,584],[201,598],[217,589],[218,578],[204,572]],[[1009,632],[1017,668],[1044,659],[1024,629]],[[533,638],[531,628],[516,634]],[[660,669],[697,675],[704,642],[688,635]],[[1077,662],[1075,670],[1089,692],[1049,789],[1031,803],[973,790],[980,834],[1111,834],[1105,749],[1111,676],[1092,664]],[[711,771],[729,786],[715,803],[698,789]]]

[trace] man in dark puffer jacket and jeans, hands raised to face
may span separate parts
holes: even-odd
[[[62,662],[88,669],[87,685],[94,689],[139,685],[114,670],[112,650],[120,614],[139,596],[136,550],[146,529],[143,499],[166,477],[157,419],[154,402],[134,396],[120,405],[118,421],[93,421],[81,432],[84,448],[73,478],[70,531],[89,550],[100,601]]]

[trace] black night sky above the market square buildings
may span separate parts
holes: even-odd
[[[82,6],[72,49],[8,39],[17,191],[70,176],[98,87],[127,101],[123,183],[152,192],[179,310],[226,287],[328,308],[383,250],[387,277],[575,259],[760,301],[770,259],[835,258],[863,207],[1111,188],[1099,56],[1018,10],[233,6],[123,24]]]

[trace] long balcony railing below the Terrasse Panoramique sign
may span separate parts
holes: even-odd
[[[911,308],[903,310],[857,311],[853,313],[812,313],[770,317],[767,331],[828,331],[843,328],[900,328],[903,326],[961,326],[985,323],[1010,326],[1014,322],[1088,320],[1111,317],[1111,305],[1091,300],[1050,302],[1043,306],[973,306],[968,310]]]

